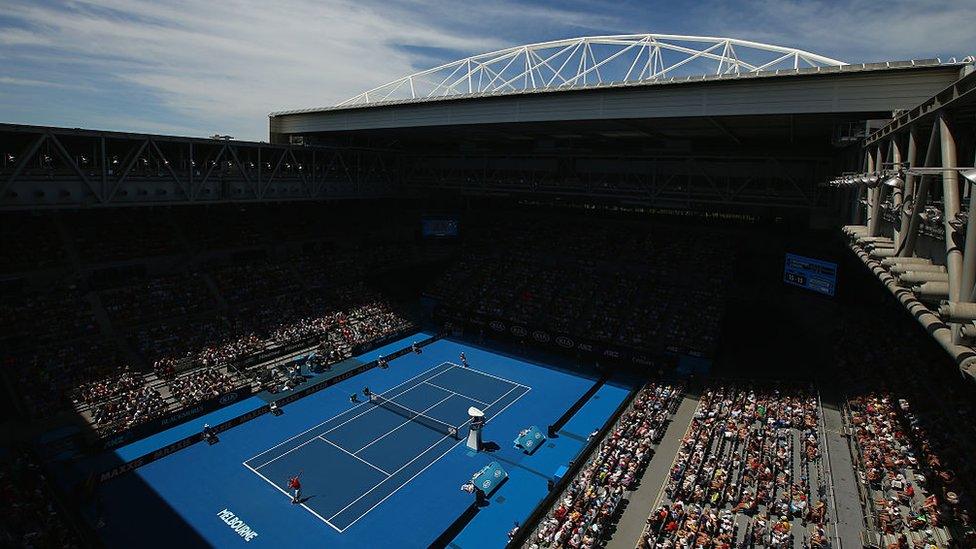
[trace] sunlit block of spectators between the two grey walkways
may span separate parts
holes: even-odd
[[[639,547],[829,547],[819,418],[801,387],[707,389]]]

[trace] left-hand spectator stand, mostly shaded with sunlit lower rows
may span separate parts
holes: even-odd
[[[235,208],[17,216],[32,230],[11,233],[23,256],[4,263],[16,274],[0,343],[23,412],[74,406],[117,432],[256,383],[227,369],[253,353],[318,338],[336,362],[412,325],[362,280],[423,261],[414,246],[360,226],[374,245],[336,247],[343,219],[272,222],[280,210],[257,209],[248,221]],[[269,232],[286,238],[271,246]],[[39,272],[54,274],[31,282]]]

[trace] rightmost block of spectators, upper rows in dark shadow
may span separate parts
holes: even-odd
[[[891,549],[974,547],[976,394],[903,311],[882,311],[835,334],[869,529]]]

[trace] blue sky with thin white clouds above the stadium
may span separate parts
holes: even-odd
[[[976,55],[976,0],[0,0],[0,122],[267,140],[272,111],[494,49],[630,33],[947,60]]]

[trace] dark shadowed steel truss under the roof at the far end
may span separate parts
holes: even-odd
[[[826,158],[723,156],[592,157],[415,156],[402,184],[414,191],[538,194],[649,205],[810,208],[831,165]]]

